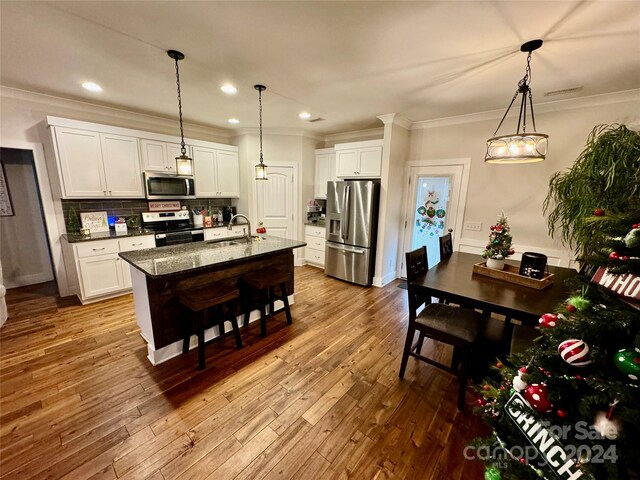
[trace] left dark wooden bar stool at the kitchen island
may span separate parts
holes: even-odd
[[[185,323],[182,353],[189,352],[191,335],[198,336],[198,368],[204,369],[204,329],[207,312],[214,313],[220,328],[220,336],[224,335],[224,321],[229,320],[233,328],[237,348],[242,348],[240,329],[236,321],[236,301],[240,298],[237,287],[222,283],[210,283],[204,287],[189,290],[180,294],[180,303],[192,312],[193,322]],[[225,313],[224,307],[227,307]],[[212,312],[212,310],[214,310]],[[194,332],[195,330],[195,332]]]

